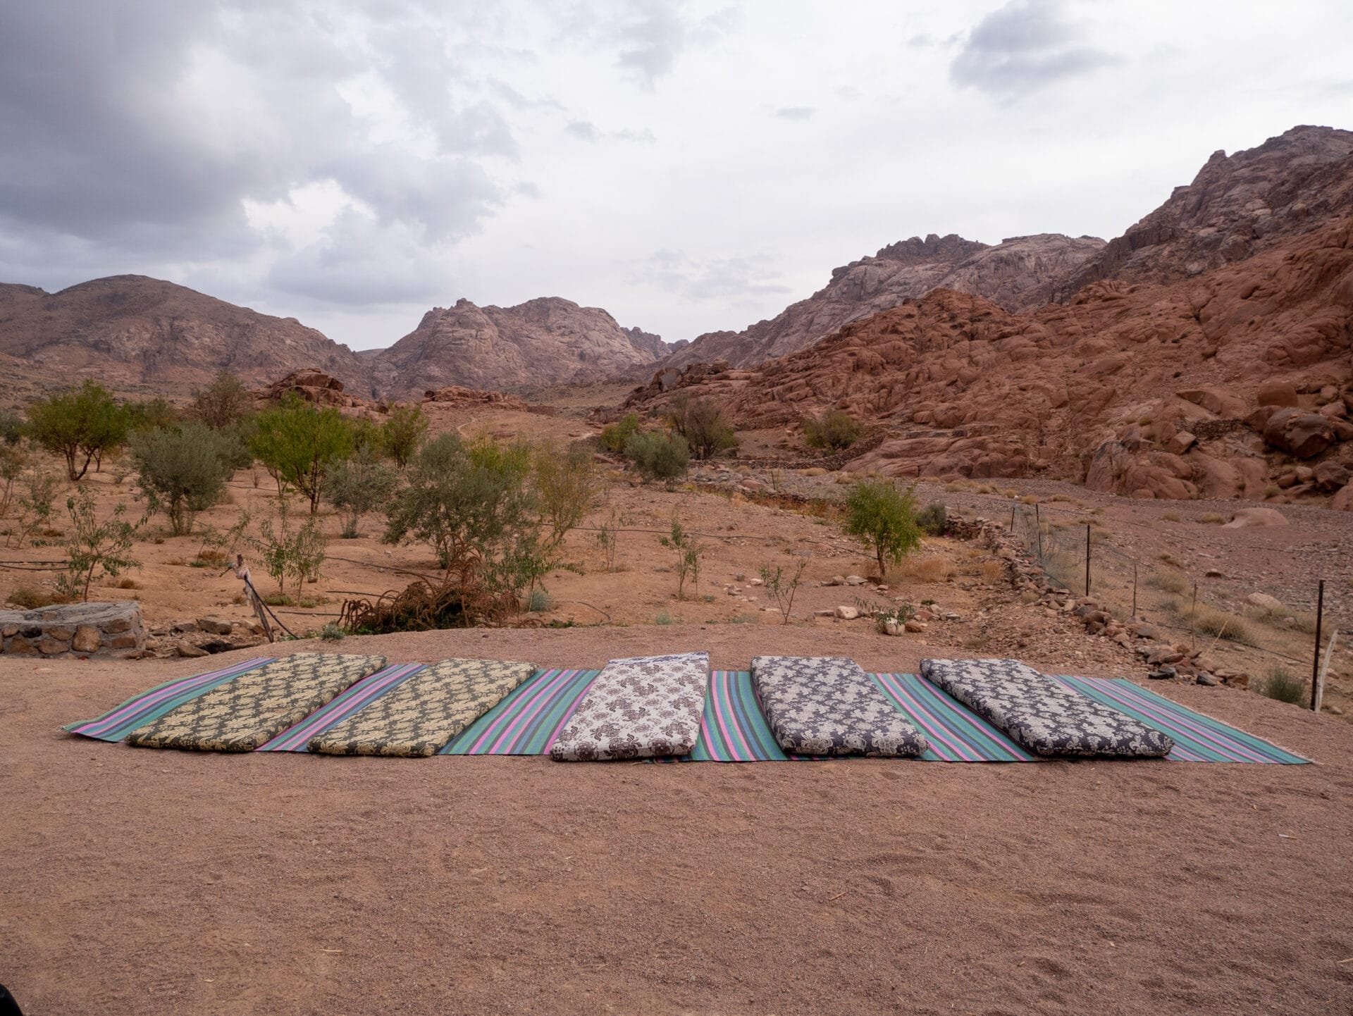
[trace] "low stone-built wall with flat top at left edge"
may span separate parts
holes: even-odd
[[[0,610],[0,652],[5,656],[118,657],[139,653],[145,644],[135,601]]]

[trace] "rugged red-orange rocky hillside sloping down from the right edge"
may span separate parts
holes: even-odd
[[[1353,216],[1189,279],[1101,280],[1030,314],[936,290],[756,371],[663,372],[628,406],[679,394],[720,400],[746,428],[832,407],[881,425],[850,469],[1353,507]]]

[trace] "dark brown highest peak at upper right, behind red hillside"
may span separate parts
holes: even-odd
[[[1170,283],[1270,250],[1353,214],[1353,131],[1300,126],[1227,157],[1057,285],[1061,300],[1101,279]]]

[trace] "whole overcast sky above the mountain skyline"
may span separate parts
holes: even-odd
[[[1353,127],[1350,38],[1346,0],[0,0],[0,281],[152,275],[359,349],[461,296],[694,338]]]

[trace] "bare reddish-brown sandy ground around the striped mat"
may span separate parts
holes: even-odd
[[[751,625],[341,648],[924,651]],[[1258,695],[1165,689],[1318,766],[226,756],[58,731],[193,670],[0,660],[0,981],[30,1016],[1353,1008],[1353,729]]]

